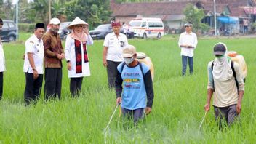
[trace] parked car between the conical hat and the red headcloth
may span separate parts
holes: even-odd
[[[92,31],[89,31],[89,35],[92,36],[92,39],[105,39],[105,36],[108,33],[112,33],[112,28],[111,28],[111,24],[103,24],[103,25],[99,25],[97,26],[97,28],[95,28]]]

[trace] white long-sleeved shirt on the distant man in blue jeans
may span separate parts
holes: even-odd
[[[197,36],[195,33],[183,32],[180,34],[180,39],[178,44],[179,44],[179,47],[184,44],[191,45],[193,48],[180,47],[181,49],[180,55],[193,57],[193,50],[196,49],[196,45],[197,45]]]

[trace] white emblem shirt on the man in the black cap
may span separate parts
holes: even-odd
[[[36,66],[36,71],[39,74],[44,74],[44,43],[42,39],[38,39],[34,34],[25,41],[25,60],[23,66],[23,71],[25,73],[33,73],[31,64],[28,61],[28,53],[33,53],[33,61]]]

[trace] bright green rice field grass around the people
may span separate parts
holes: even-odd
[[[104,143],[103,130],[115,108],[116,95],[107,87],[102,65],[103,40],[89,49],[92,76],[83,81],[81,97],[71,98],[69,79],[63,63],[62,99],[25,107],[23,60],[25,39],[21,33],[15,43],[4,43],[7,71],[4,72],[4,95],[0,103],[0,143]],[[153,112],[138,127],[124,129],[119,111],[113,117],[107,143],[254,143],[255,138],[255,39],[201,39],[194,57],[194,75],[181,76],[178,36],[163,39],[131,39],[138,52],[145,52],[155,68]],[[241,126],[219,131],[214,113],[206,116],[207,63],[214,57],[212,46],[222,41],[229,50],[244,55],[248,76],[242,103]]]

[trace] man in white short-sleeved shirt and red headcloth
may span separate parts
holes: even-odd
[[[107,68],[108,87],[110,89],[115,87],[117,66],[123,61],[121,54],[124,47],[128,45],[127,36],[120,33],[120,22],[112,22],[111,26],[113,33],[108,33],[105,36],[103,44],[103,65]]]

